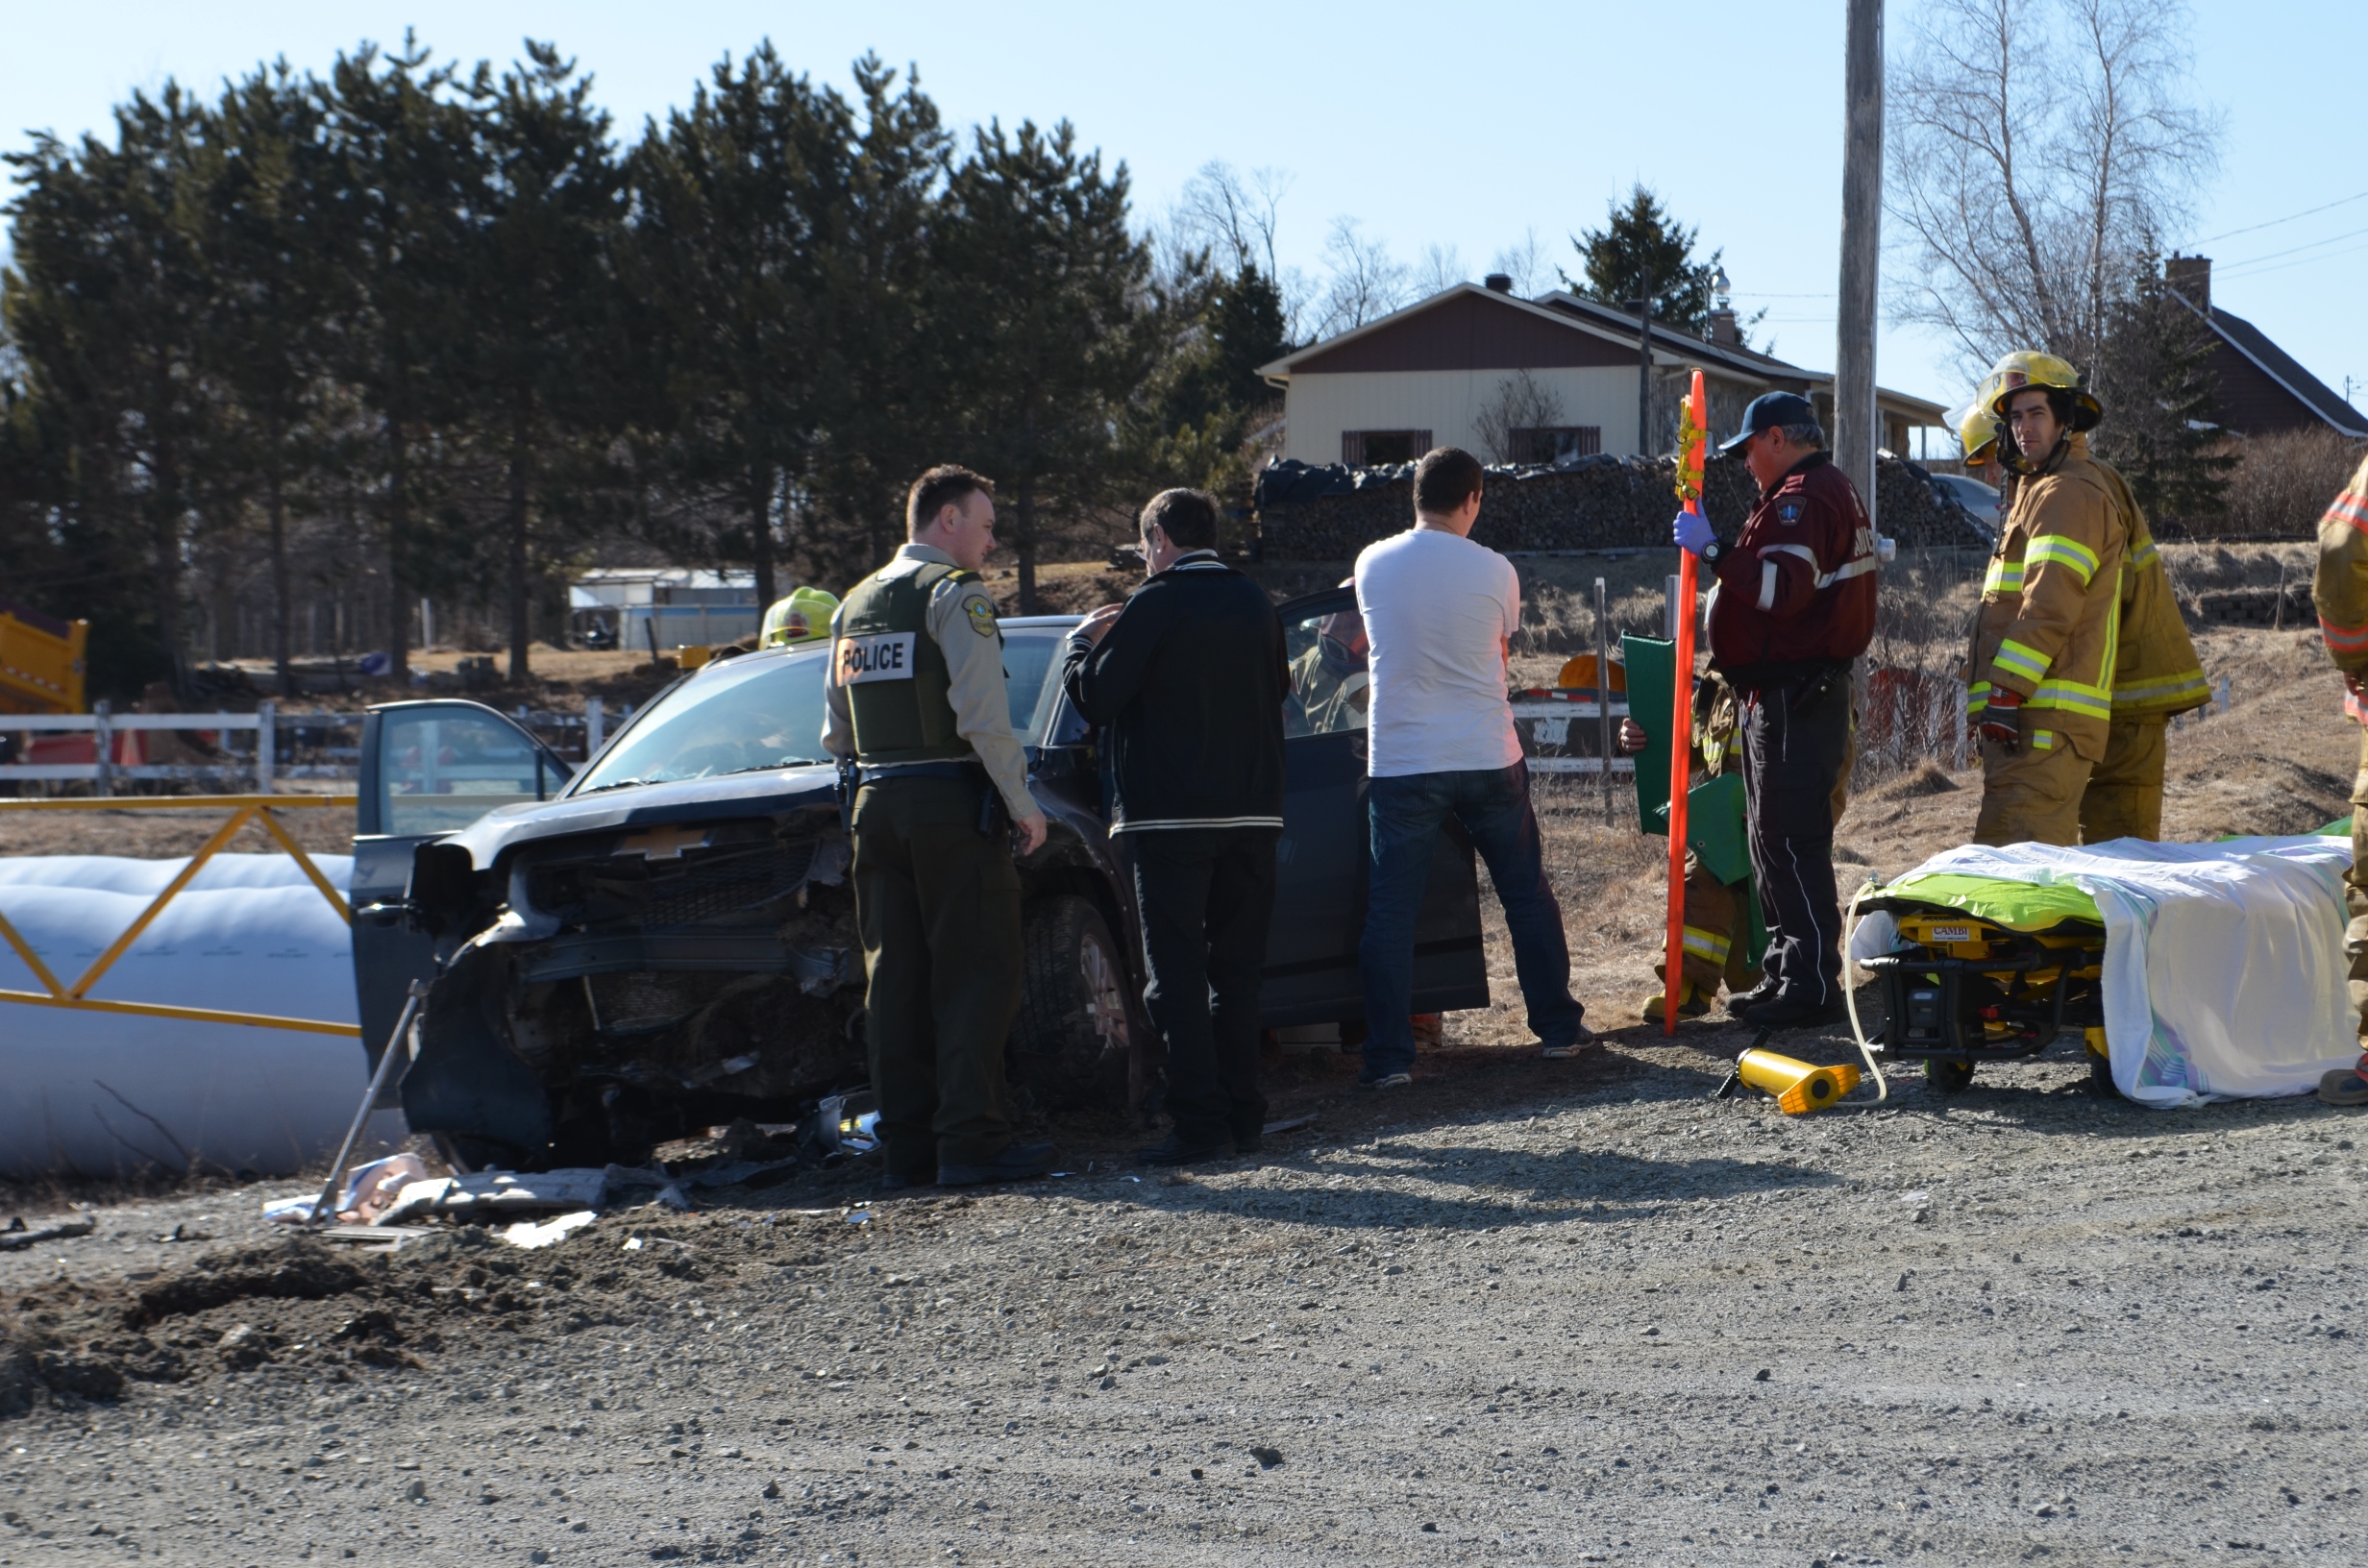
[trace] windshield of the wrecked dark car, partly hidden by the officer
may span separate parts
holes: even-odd
[[[1066,625],[1004,628],[1004,680],[1011,730],[1035,739],[1035,715],[1056,670]],[[826,647],[789,654],[741,654],[701,670],[642,713],[578,777],[571,796],[625,784],[713,779],[826,763],[822,748],[822,677]]]

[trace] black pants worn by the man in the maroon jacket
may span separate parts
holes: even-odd
[[[1752,879],[1785,1002],[1842,1000],[1842,905],[1833,886],[1833,786],[1849,753],[1849,670],[1748,692],[1743,786]]]

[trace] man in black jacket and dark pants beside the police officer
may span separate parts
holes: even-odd
[[[1257,1151],[1257,976],[1283,831],[1283,623],[1217,559],[1217,502],[1144,507],[1148,578],[1068,637],[1063,682],[1101,725],[1144,919],[1144,1004],[1167,1042],[1175,1130],[1153,1165]]]

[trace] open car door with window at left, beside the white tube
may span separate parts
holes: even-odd
[[[410,891],[412,850],[457,834],[497,805],[549,801],[566,782],[566,763],[483,703],[386,703],[362,720],[353,990],[372,1068],[386,1049],[386,1033],[403,1016],[412,981],[436,973],[436,943],[388,907]],[[379,910],[372,912],[372,905]]]

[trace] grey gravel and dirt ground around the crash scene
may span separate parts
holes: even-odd
[[[2340,815],[2323,651],[2202,642],[2169,831]],[[1892,876],[1975,803],[1873,782],[1842,843]],[[1660,841],[1544,820],[1606,1052],[1534,1056],[1492,924],[1497,1007],[1411,1090],[1269,1059],[1314,1123],[1255,1161],[1080,1118],[1061,1180],[857,1161],[545,1251],[260,1222],[317,1177],[7,1189],[95,1229],[0,1253],[0,1561],[2368,1561],[2368,1123],[2141,1111],[2067,1047],[1714,1101],[1745,1030],[1634,1023]]]

